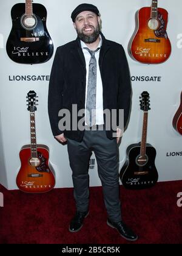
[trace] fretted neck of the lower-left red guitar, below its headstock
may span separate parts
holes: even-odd
[[[30,112],[30,141],[31,141],[31,157],[37,157],[35,113],[34,112]]]

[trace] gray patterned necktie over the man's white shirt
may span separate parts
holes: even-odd
[[[89,62],[89,79],[87,86],[87,102],[86,102],[86,123],[92,127],[96,123],[96,59],[95,52],[100,48],[97,48],[95,51],[91,51],[89,48],[87,51],[90,53],[91,58]],[[89,115],[87,115],[89,114]]]

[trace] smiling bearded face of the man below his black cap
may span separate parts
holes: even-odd
[[[100,17],[94,12],[84,11],[76,16],[73,26],[76,29],[78,37],[84,43],[93,43],[99,37]]]

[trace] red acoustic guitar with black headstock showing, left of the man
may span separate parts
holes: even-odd
[[[38,99],[35,91],[29,91],[27,98],[31,144],[23,146],[19,153],[21,168],[16,177],[16,184],[21,191],[43,193],[55,186],[55,176],[52,166],[49,165],[49,148],[36,144],[35,110]]]

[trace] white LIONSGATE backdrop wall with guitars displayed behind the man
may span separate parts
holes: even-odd
[[[70,15],[82,3],[1,2],[0,182],[10,190],[35,186],[25,172],[32,179],[48,180],[36,192],[72,187],[67,146],[53,138],[47,96],[56,48],[75,40]],[[182,179],[182,2],[88,3],[101,13],[104,36],[123,45],[130,67],[132,108],[119,148],[120,170],[132,161],[141,176],[147,165],[158,181]],[[89,174],[90,186],[101,185],[94,154]],[[141,180],[123,177],[129,185],[145,183]]]

